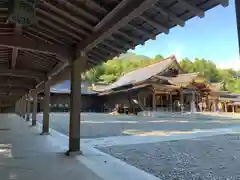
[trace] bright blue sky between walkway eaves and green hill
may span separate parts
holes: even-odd
[[[175,54],[178,59],[205,58],[221,68],[240,68],[237,25],[234,1],[228,7],[217,6],[204,18],[193,18],[185,26],[175,27],[168,35],[158,35],[144,46],[137,46],[137,54],[154,57],[156,54]]]

